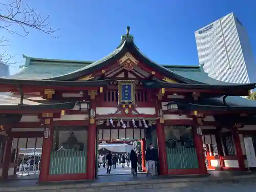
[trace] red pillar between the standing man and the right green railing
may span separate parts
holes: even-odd
[[[156,123],[156,132],[158,142],[160,175],[168,175],[164,127],[163,124],[160,123],[159,119],[157,120]]]

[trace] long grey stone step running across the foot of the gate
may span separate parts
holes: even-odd
[[[99,192],[99,191],[115,191],[115,190],[136,190],[150,188],[169,188],[182,187],[186,185],[194,185],[205,182],[236,182],[238,180],[256,180],[256,174],[239,175],[230,177],[196,177],[196,178],[162,178],[162,179],[146,179],[134,181],[118,181],[118,182],[94,182],[94,183],[51,183],[37,186],[22,187],[1,187],[0,191],[33,191],[33,192]]]

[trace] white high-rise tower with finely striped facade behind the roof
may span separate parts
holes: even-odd
[[[195,32],[199,64],[217,80],[256,82],[256,65],[247,31],[234,13]]]

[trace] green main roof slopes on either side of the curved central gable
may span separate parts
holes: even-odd
[[[114,53],[114,52],[113,52]],[[28,59],[28,57],[26,58]],[[35,59],[35,58],[33,58]],[[30,63],[28,65],[24,65],[20,68],[19,72],[4,78],[8,79],[49,79],[58,77],[61,75],[73,73],[75,71],[79,71],[84,69],[84,67],[91,67],[91,65],[96,65],[97,62],[73,62],[73,61],[65,61],[65,60],[56,60],[51,59],[39,59],[37,60],[30,59]],[[107,59],[107,58],[103,58]],[[103,60],[102,59],[102,60]],[[216,80],[211,78],[205,73],[202,67],[199,66],[179,66],[179,65],[162,65],[162,67],[175,72],[176,74],[195,80],[200,81],[207,84],[236,84],[236,83],[228,83]]]

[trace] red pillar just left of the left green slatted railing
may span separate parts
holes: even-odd
[[[48,124],[49,120],[50,120],[50,124]],[[44,139],[42,140],[42,154],[41,154],[41,161],[40,161],[39,182],[48,181],[53,134],[54,134],[53,119],[46,119],[45,127],[49,128],[50,133],[47,137],[45,137],[44,135]]]

